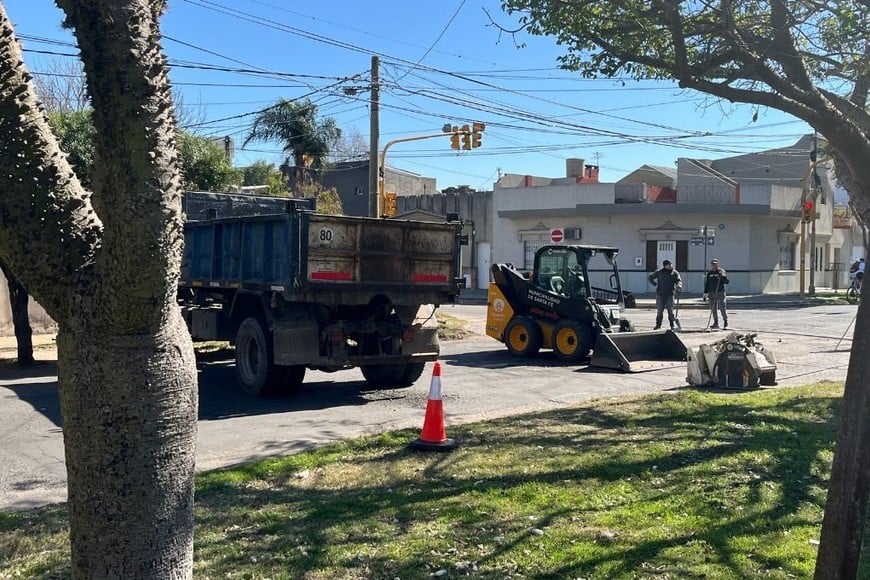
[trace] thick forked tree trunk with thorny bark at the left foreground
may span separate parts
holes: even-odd
[[[0,2],[0,257],[59,327],[74,578],[190,578],[196,366],[162,0],[56,0],[93,103],[84,190]],[[37,258],[34,259],[34,256]]]

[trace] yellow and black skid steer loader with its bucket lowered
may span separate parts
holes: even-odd
[[[633,297],[622,290],[618,253],[605,246],[544,246],[528,275],[493,264],[486,333],[522,357],[546,348],[560,361],[577,362],[591,351],[591,366],[626,372],[685,363],[686,345],[673,331],[633,332],[624,317]],[[610,288],[592,286],[590,275]]]

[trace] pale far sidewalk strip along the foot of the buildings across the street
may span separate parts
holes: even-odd
[[[487,291],[479,288],[463,290],[458,304],[486,304]],[[655,294],[635,294],[638,308],[655,308]],[[831,300],[845,300],[845,290],[836,294],[830,288],[817,288],[816,296],[803,299],[797,294],[735,294],[728,296],[728,308],[801,308],[828,304]],[[710,305],[701,300],[700,294],[684,294],[680,297],[680,308],[708,309]]]

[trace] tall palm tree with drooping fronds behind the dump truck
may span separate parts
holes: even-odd
[[[298,168],[318,171],[323,169],[330,147],[341,138],[341,129],[335,119],[317,119],[317,105],[309,100],[302,102],[279,99],[263,109],[254,119],[245,145],[252,141],[278,141],[283,145],[287,161],[290,158]]]

